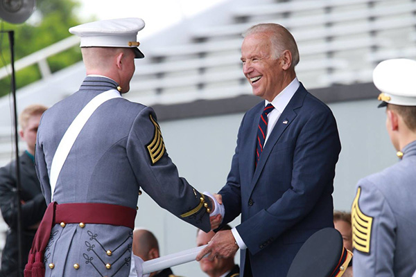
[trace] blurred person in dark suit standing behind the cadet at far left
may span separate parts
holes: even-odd
[[[37,226],[42,220],[46,202],[40,189],[40,183],[35,172],[35,142],[37,127],[46,107],[30,105],[19,116],[22,141],[26,142],[27,150],[19,157],[21,181],[21,218],[22,218],[22,261],[23,267],[28,260],[33,237]],[[0,209],[4,221],[8,224],[6,245],[1,256],[0,276],[21,276],[18,270],[18,233],[17,233],[17,190],[16,163],[12,161],[0,168]],[[23,268],[20,269],[23,272]]]

